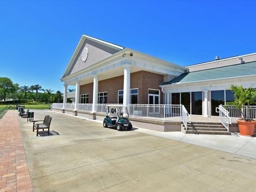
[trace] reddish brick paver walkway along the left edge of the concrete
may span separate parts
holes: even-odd
[[[17,118],[9,110],[0,121],[0,192],[33,191]]]

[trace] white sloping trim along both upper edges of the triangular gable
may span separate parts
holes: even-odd
[[[82,35],[81,39],[79,40],[79,42],[76,46],[76,49],[75,49],[73,55],[72,55],[72,57],[71,57],[71,59],[68,63],[68,66],[67,66],[67,68],[65,69],[65,72],[62,75],[62,78],[65,77],[68,74],[68,71],[73,66],[74,62],[76,61],[76,57],[77,57],[79,51],[82,49],[82,46],[83,46],[86,39],[89,39],[93,42],[97,42],[97,43],[100,43],[100,44],[108,46],[108,47],[111,47],[112,49],[115,49],[117,51],[121,51],[121,50],[125,49],[125,47],[120,46],[120,45],[109,43],[109,42],[106,42],[106,41],[103,41],[101,39],[94,38],[94,37],[91,37],[91,36],[88,36],[88,35]]]

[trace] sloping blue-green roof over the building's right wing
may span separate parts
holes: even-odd
[[[190,73],[183,73],[180,76],[172,79],[171,81],[164,82],[160,85],[207,81],[212,79],[222,79],[249,75],[256,75],[256,61],[226,67],[194,71]]]

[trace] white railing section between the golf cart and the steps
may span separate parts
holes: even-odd
[[[164,121],[181,121],[180,105],[129,104],[129,116]]]

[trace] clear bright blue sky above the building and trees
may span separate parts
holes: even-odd
[[[0,77],[63,90],[82,34],[178,65],[256,52],[255,1],[0,1]]]

